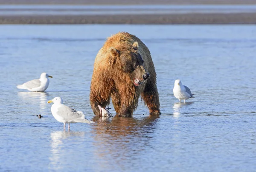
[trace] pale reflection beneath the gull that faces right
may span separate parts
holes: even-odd
[[[44,109],[47,108],[47,100],[49,94],[46,92],[18,92],[18,96],[23,99],[23,102],[28,102],[29,104],[40,104],[40,112],[44,114]]]

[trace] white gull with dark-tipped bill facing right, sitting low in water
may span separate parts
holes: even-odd
[[[22,85],[17,85],[17,88],[29,91],[44,92],[49,86],[49,78],[52,78],[52,76],[49,76],[48,73],[44,72],[41,74],[40,79],[33,79]]]

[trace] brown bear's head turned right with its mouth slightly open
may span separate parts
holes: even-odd
[[[138,42],[125,45],[120,50],[111,47],[109,52],[112,56],[112,65],[118,65],[122,72],[129,74],[134,85],[139,86],[148,79],[149,74],[143,66],[143,59],[138,53]]]

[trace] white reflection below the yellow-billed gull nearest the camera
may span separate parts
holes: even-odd
[[[63,155],[65,155],[65,150],[67,145],[63,144],[63,141],[69,137],[85,137],[85,132],[65,132],[56,131],[51,133],[51,155],[49,156],[49,169],[50,170],[60,170],[63,169]]]

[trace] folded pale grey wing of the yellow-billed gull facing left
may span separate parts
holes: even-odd
[[[64,104],[61,104],[61,106],[58,107],[57,115],[61,116],[66,121],[71,121],[77,118],[84,118],[84,114],[82,112],[77,111]]]

